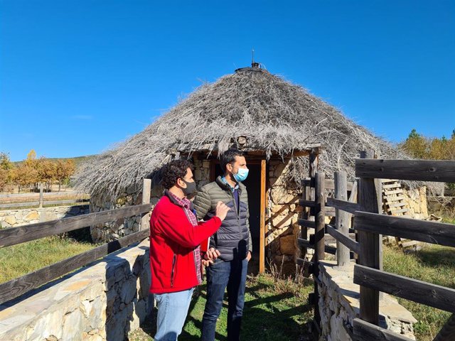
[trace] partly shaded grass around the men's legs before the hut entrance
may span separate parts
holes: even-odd
[[[308,305],[308,294],[313,291],[313,281],[302,283],[292,280],[274,280],[269,274],[251,277],[247,281],[245,309],[242,320],[242,340],[289,341],[312,340],[306,323],[313,318]],[[183,332],[178,340],[200,339],[201,321],[205,306],[205,285],[195,293],[186,318]],[[225,302],[216,328],[216,340],[227,340]],[[156,321],[151,319],[141,329],[132,332],[130,341],[154,340]]]

